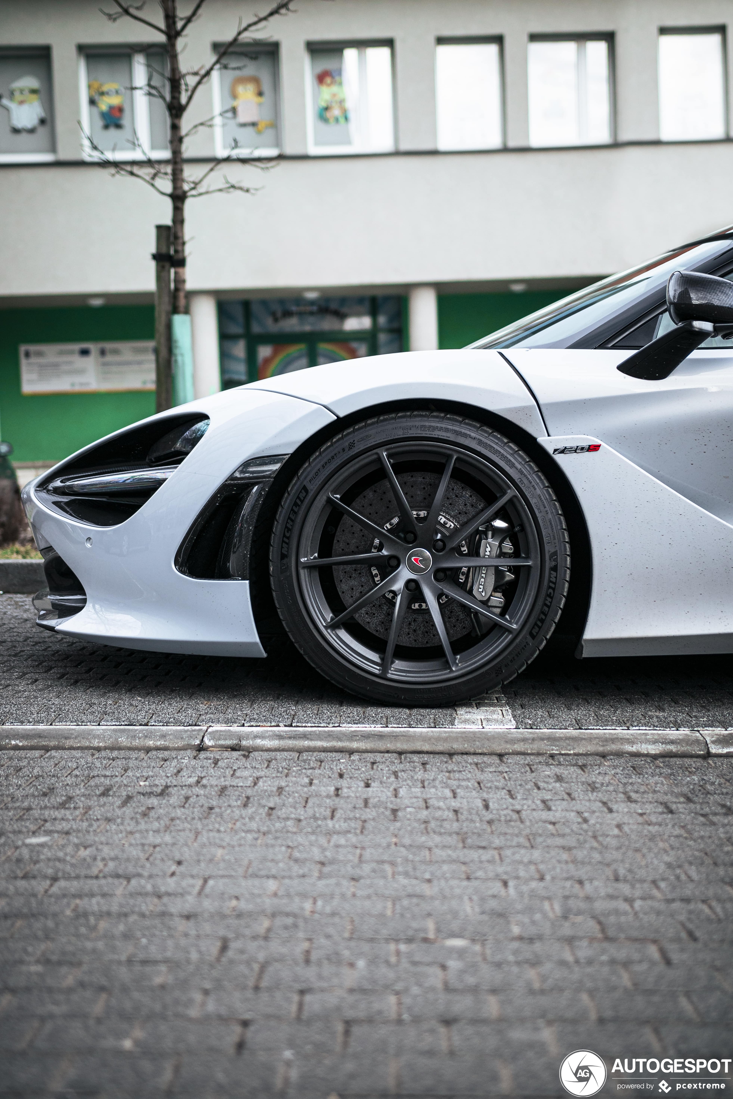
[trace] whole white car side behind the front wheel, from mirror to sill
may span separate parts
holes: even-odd
[[[584,656],[733,652],[733,351],[698,351],[668,378],[629,351],[511,348],[542,406],[588,525],[593,577]]]

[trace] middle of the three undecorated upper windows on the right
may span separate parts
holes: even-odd
[[[530,145],[611,141],[608,38],[530,42]]]

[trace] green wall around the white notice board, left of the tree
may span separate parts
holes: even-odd
[[[155,412],[155,393],[21,393],[25,343],[153,340],[153,306],[0,310],[0,431],[14,462],[57,462]]]

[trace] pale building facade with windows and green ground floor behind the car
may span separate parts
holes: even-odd
[[[297,9],[191,109],[190,166],[253,188],[188,206],[197,396],[462,346],[733,222],[725,0]],[[186,64],[241,14],[207,0]],[[97,0],[0,0],[0,432],[30,469],[154,410],[169,208],[99,160],[166,157],[166,63]]]

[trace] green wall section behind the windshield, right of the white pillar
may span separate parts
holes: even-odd
[[[542,309],[570,290],[531,290],[525,293],[442,293],[437,299],[441,347],[465,347],[489,332]]]

